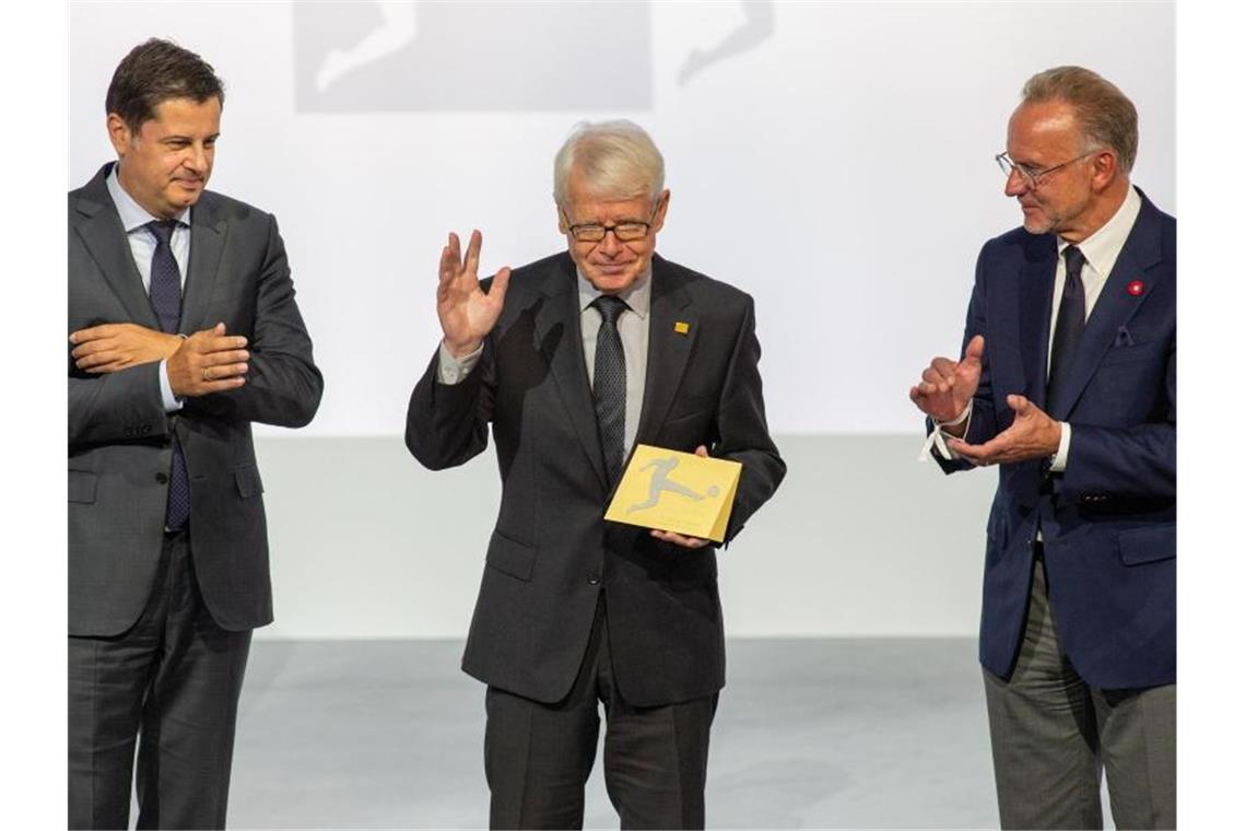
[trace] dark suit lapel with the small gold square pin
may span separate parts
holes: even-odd
[[[644,402],[637,427],[638,444],[657,440],[670,405],[679,392],[700,326],[692,298],[674,282],[665,260],[653,257],[653,287],[649,300],[649,355],[645,364]],[[688,324],[683,333],[675,324]]]

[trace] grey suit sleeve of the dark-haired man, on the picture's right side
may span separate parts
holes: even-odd
[[[228,392],[187,399],[186,407],[237,421],[302,427],[320,406],[324,379],[312,359],[312,338],[294,300],[294,282],[274,217],[268,217],[255,293],[247,382]]]

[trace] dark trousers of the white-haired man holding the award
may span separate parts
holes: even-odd
[[[604,599],[571,693],[541,704],[490,686],[485,695],[485,775],[491,829],[579,829],[584,784],[597,755],[623,829],[705,827],[705,765],[718,695],[638,708],[619,694],[611,670]]]

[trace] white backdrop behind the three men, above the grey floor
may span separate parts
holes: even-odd
[[[483,230],[490,272],[561,247],[553,153],[576,121],[608,117],[667,157],[659,250],[758,300],[791,475],[724,557],[729,633],[972,634],[993,475],[943,482],[913,463],[906,392],[958,346],[982,242],[1018,224],[992,156],[1034,71],[1080,64],[1118,83],[1141,117],[1134,179],[1176,212],[1174,17],[1116,2],[72,4],[67,184],[111,158],[105,91],[135,44],[172,37],[224,78],[211,187],[277,214],[326,379],[305,440],[257,430],[269,634],[465,630],[492,460],[434,476],[396,440],[439,338],[435,262],[450,229]],[[350,55],[368,60],[343,69]]]

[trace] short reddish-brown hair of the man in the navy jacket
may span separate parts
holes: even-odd
[[[1057,66],[1025,81],[1020,96],[1022,103],[1067,101],[1087,140],[1115,151],[1125,173],[1134,168],[1138,110],[1115,83],[1080,66]]]

